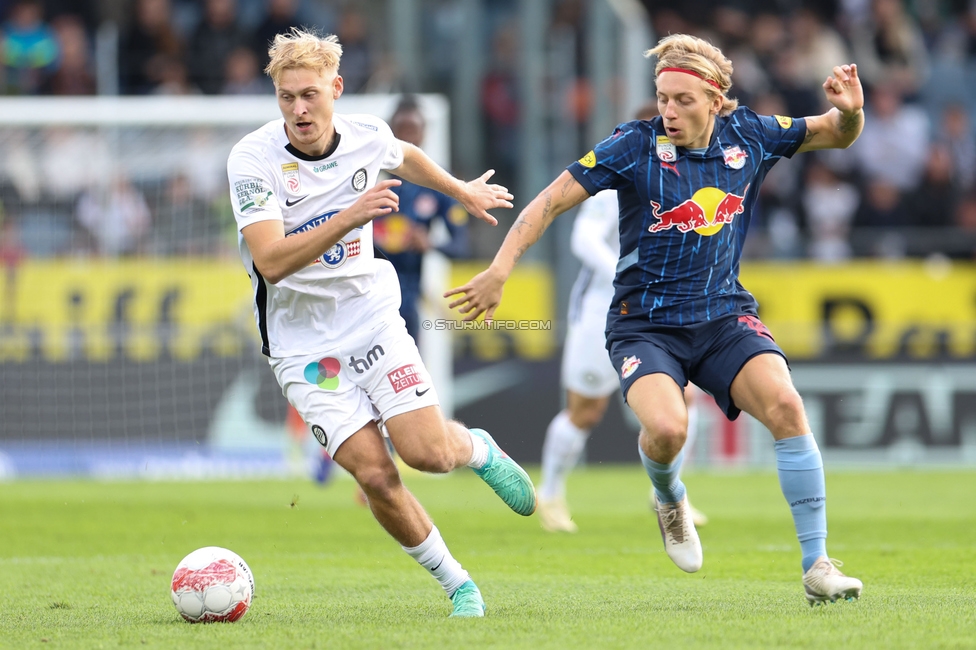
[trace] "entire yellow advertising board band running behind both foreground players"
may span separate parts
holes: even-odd
[[[487,262],[455,263],[460,286]],[[873,359],[976,354],[976,265],[856,262],[838,266],[750,263],[742,283],[793,359],[824,354]],[[442,317],[460,320],[446,311]],[[497,320],[532,329],[457,330],[479,358],[556,350],[555,281],[526,264],[505,285]],[[30,261],[0,276],[0,362],[39,349],[50,361],[104,360],[121,352],[152,360],[204,350],[239,355],[257,346],[251,287],[236,260]]]

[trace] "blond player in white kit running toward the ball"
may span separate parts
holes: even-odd
[[[267,73],[284,119],[247,135],[227,162],[262,351],[289,403],[365,491],[376,520],[444,588],[451,616],[484,616],[478,587],[400,480],[380,434],[416,469],[474,469],[514,511],[535,510],[528,475],[487,432],[445,420],[398,313],[396,273],[373,251],[372,220],[397,210],[399,180],[455,197],[473,215],[511,207],[491,172],[464,183],[370,115],[334,113],[335,36],[275,38]]]

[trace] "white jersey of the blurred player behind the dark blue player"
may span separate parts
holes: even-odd
[[[580,206],[570,245],[583,268],[570,294],[571,321],[590,315],[606,322],[620,257],[619,214],[616,190],[598,192]]]

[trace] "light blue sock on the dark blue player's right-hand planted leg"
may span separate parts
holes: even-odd
[[[793,513],[796,537],[803,553],[803,571],[827,555],[827,488],[823,459],[811,435],[777,440],[779,485]]]

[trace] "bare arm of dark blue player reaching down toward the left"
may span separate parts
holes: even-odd
[[[525,206],[505,236],[491,266],[471,278],[466,285],[444,294],[445,298],[458,296],[448,307],[457,307],[459,312],[465,314],[466,321],[474,320],[481,314],[485,315],[485,320],[491,320],[502,300],[502,287],[525,251],[539,241],[553,219],[589,196],[572,174],[568,171],[560,174]]]

